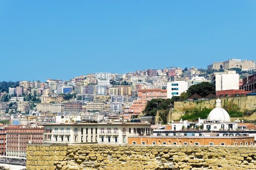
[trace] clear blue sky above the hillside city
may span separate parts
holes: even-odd
[[[0,82],[255,60],[256,0],[1,0]]]

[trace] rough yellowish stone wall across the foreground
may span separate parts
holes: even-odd
[[[256,146],[28,144],[27,170],[255,170]]]

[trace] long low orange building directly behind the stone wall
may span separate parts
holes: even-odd
[[[254,136],[136,136],[128,144],[145,145],[254,145]]]

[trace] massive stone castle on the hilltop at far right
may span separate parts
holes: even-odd
[[[220,69],[230,69],[230,68],[241,68],[242,71],[247,71],[250,68],[255,67],[255,60],[241,60],[241,59],[229,59],[225,62],[213,62],[213,64],[207,66],[209,70],[220,70]]]

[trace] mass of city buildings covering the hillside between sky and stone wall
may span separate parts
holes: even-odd
[[[235,145],[234,140],[243,140],[243,145],[254,144],[256,128],[252,124],[209,117],[197,123],[180,120],[154,128],[153,118],[141,119],[141,122],[132,119],[145,109],[151,99],[180,96],[190,86],[201,82],[213,83],[219,98],[255,91],[255,75],[239,79],[235,71],[225,70],[254,70],[254,60],[231,59],[208,67],[222,72],[202,76],[195,67],[186,70],[169,67],[126,74],[94,73],[73,77],[69,81],[20,81],[19,86],[9,87],[9,91],[0,94],[0,97],[9,97],[8,101],[0,102],[0,119],[11,121],[11,125],[0,126],[0,155],[25,157],[27,143],[43,142]],[[34,102],[28,102],[28,99]],[[199,127],[222,131],[214,134],[189,132],[195,128],[199,130]],[[233,130],[227,133],[231,129],[250,132],[242,134]],[[220,142],[227,134],[228,138]],[[217,140],[216,135],[222,138]],[[182,138],[177,139],[178,136]],[[240,141],[236,144],[242,145]]]

